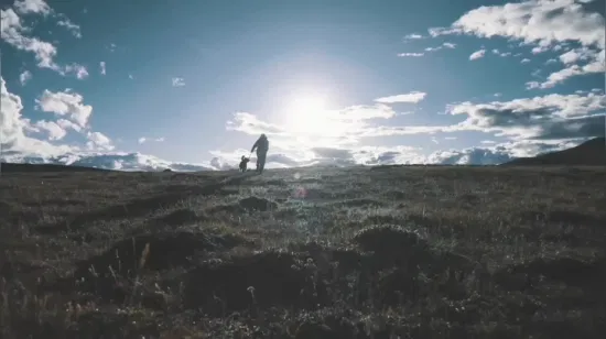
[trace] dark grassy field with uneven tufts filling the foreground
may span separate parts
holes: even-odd
[[[602,338],[604,168],[0,178],[2,338]]]

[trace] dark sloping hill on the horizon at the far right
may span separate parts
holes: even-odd
[[[606,166],[606,139],[592,139],[572,149],[540,154],[534,157],[519,157],[504,165]]]

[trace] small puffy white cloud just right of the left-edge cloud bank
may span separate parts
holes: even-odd
[[[93,113],[93,107],[84,105],[83,100],[83,96],[77,92],[69,90],[52,92],[45,89],[35,102],[42,111],[69,116],[79,127],[86,128],[88,119]]]

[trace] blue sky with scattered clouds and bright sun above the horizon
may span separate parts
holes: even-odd
[[[2,158],[499,164],[604,136],[604,0],[0,0]]]

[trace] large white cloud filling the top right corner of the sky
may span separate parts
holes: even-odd
[[[535,45],[534,53],[559,51],[562,43],[578,43],[594,51],[585,65],[569,65],[551,74],[544,83],[527,84],[528,88],[552,88],[564,80],[586,74],[605,72],[605,19],[600,13],[588,12],[574,0],[529,0],[504,6],[483,6],[474,9],[451,28],[430,29],[433,36],[472,34],[480,37],[502,36]],[[578,59],[572,54],[564,59]]]

